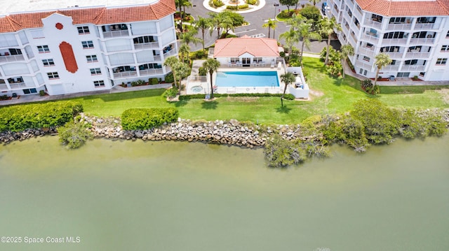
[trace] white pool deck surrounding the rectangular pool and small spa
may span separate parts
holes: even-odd
[[[234,94],[234,93],[271,93],[271,94],[279,94],[283,92],[283,83],[281,83],[281,75],[285,73],[285,69],[283,66],[278,67],[274,66],[271,67],[269,64],[268,66],[249,66],[249,67],[243,67],[243,66],[228,66],[225,64],[222,64],[220,68],[217,70],[217,72],[224,72],[224,71],[276,71],[278,74],[279,79],[279,86],[277,87],[214,87],[213,92],[214,93],[220,93],[220,94]],[[201,77],[201,76],[200,76]],[[208,82],[208,76],[202,76],[203,78],[198,77],[192,77],[187,81],[187,94],[209,94],[210,93],[210,86]],[[213,83],[215,85],[215,80],[217,78],[217,73],[213,73]],[[199,88],[198,86],[201,86]],[[192,90],[192,87],[194,89],[201,89],[199,92],[194,92]],[[287,91],[288,93],[288,91]]]

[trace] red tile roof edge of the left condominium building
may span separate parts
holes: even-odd
[[[0,17],[0,33],[43,27],[42,19],[53,13],[60,13],[61,15],[72,17],[74,24],[114,24],[120,22],[158,20],[175,13],[175,11],[175,1],[159,0],[157,3],[142,6],[74,8],[18,13]]]

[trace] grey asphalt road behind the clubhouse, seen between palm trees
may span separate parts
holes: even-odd
[[[268,28],[262,28],[262,25],[267,22],[269,18],[274,19],[275,15],[279,14],[279,10],[286,10],[286,6],[274,7],[274,3],[279,3],[279,0],[265,0],[265,6],[260,8],[260,10],[255,10],[250,13],[243,13],[243,17],[245,17],[245,20],[249,22],[249,25],[246,25],[244,27],[237,27],[234,30],[234,33],[237,36],[260,36],[260,37],[268,37]],[[191,0],[193,7],[187,8],[186,12],[193,15],[195,19],[200,17],[208,17],[208,13],[210,13],[210,10],[204,8],[203,6],[203,0]],[[309,3],[309,1],[300,1],[298,4],[298,7],[300,8],[301,3]],[[321,6],[321,3],[316,3],[316,6]],[[290,9],[295,8],[290,7]],[[275,36],[276,39],[279,39],[279,34],[282,34],[285,31],[288,31],[290,29],[288,25],[285,22],[278,22],[276,29],[271,31],[271,38]],[[273,35],[274,33],[274,35]],[[198,35],[201,38],[201,31]],[[217,31],[213,31],[213,33],[210,35],[208,32],[205,36],[205,45],[206,47],[212,45],[215,43],[215,40],[217,39]],[[283,43],[283,41],[280,41]],[[334,48],[340,48],[340,43],[335,40],[332,41],[331,44]],[[192,51],[201,49],[202,45],[190,45],[190,48]],[[295,47],[300,48],[300,44],[296,44]],[[312,41],[310,49],[305,48],[304,52],[313,52],[313,53],[319,53],[324,47],[326,47],[326,41]]]

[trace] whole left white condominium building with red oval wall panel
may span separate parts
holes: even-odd
[[[92,2],[2,4],[0,95],[91,92],[170,72],[163,62],[177,55],[173,0],[74,3]]]

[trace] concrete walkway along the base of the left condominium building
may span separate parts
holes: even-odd
[[[40,102],[40,101],[70,99],[70,98],[77,98],[80,96],[91,96],[91,95],[98,95],[98,94],[135,92],[135,91],[142,91],[145,89],[161,89],[161,88],[167,89],[170,87],[171,87],[171,84],[142,85],[142,86],[136,86],[136,87],[121,87],[120,85],[116,85],[112,89],[108,89],[105,91],[98,91],[98,92],[79,92],[79,93],[74,93],[74,94],[65,94],[65,95],[57,95],[57,96],[25,95],[25,96],[19,96],[16,99],[0,101],[0,106],[14,105],[14,104],[18,104],[18,103],[31,103],[31,102]]]

